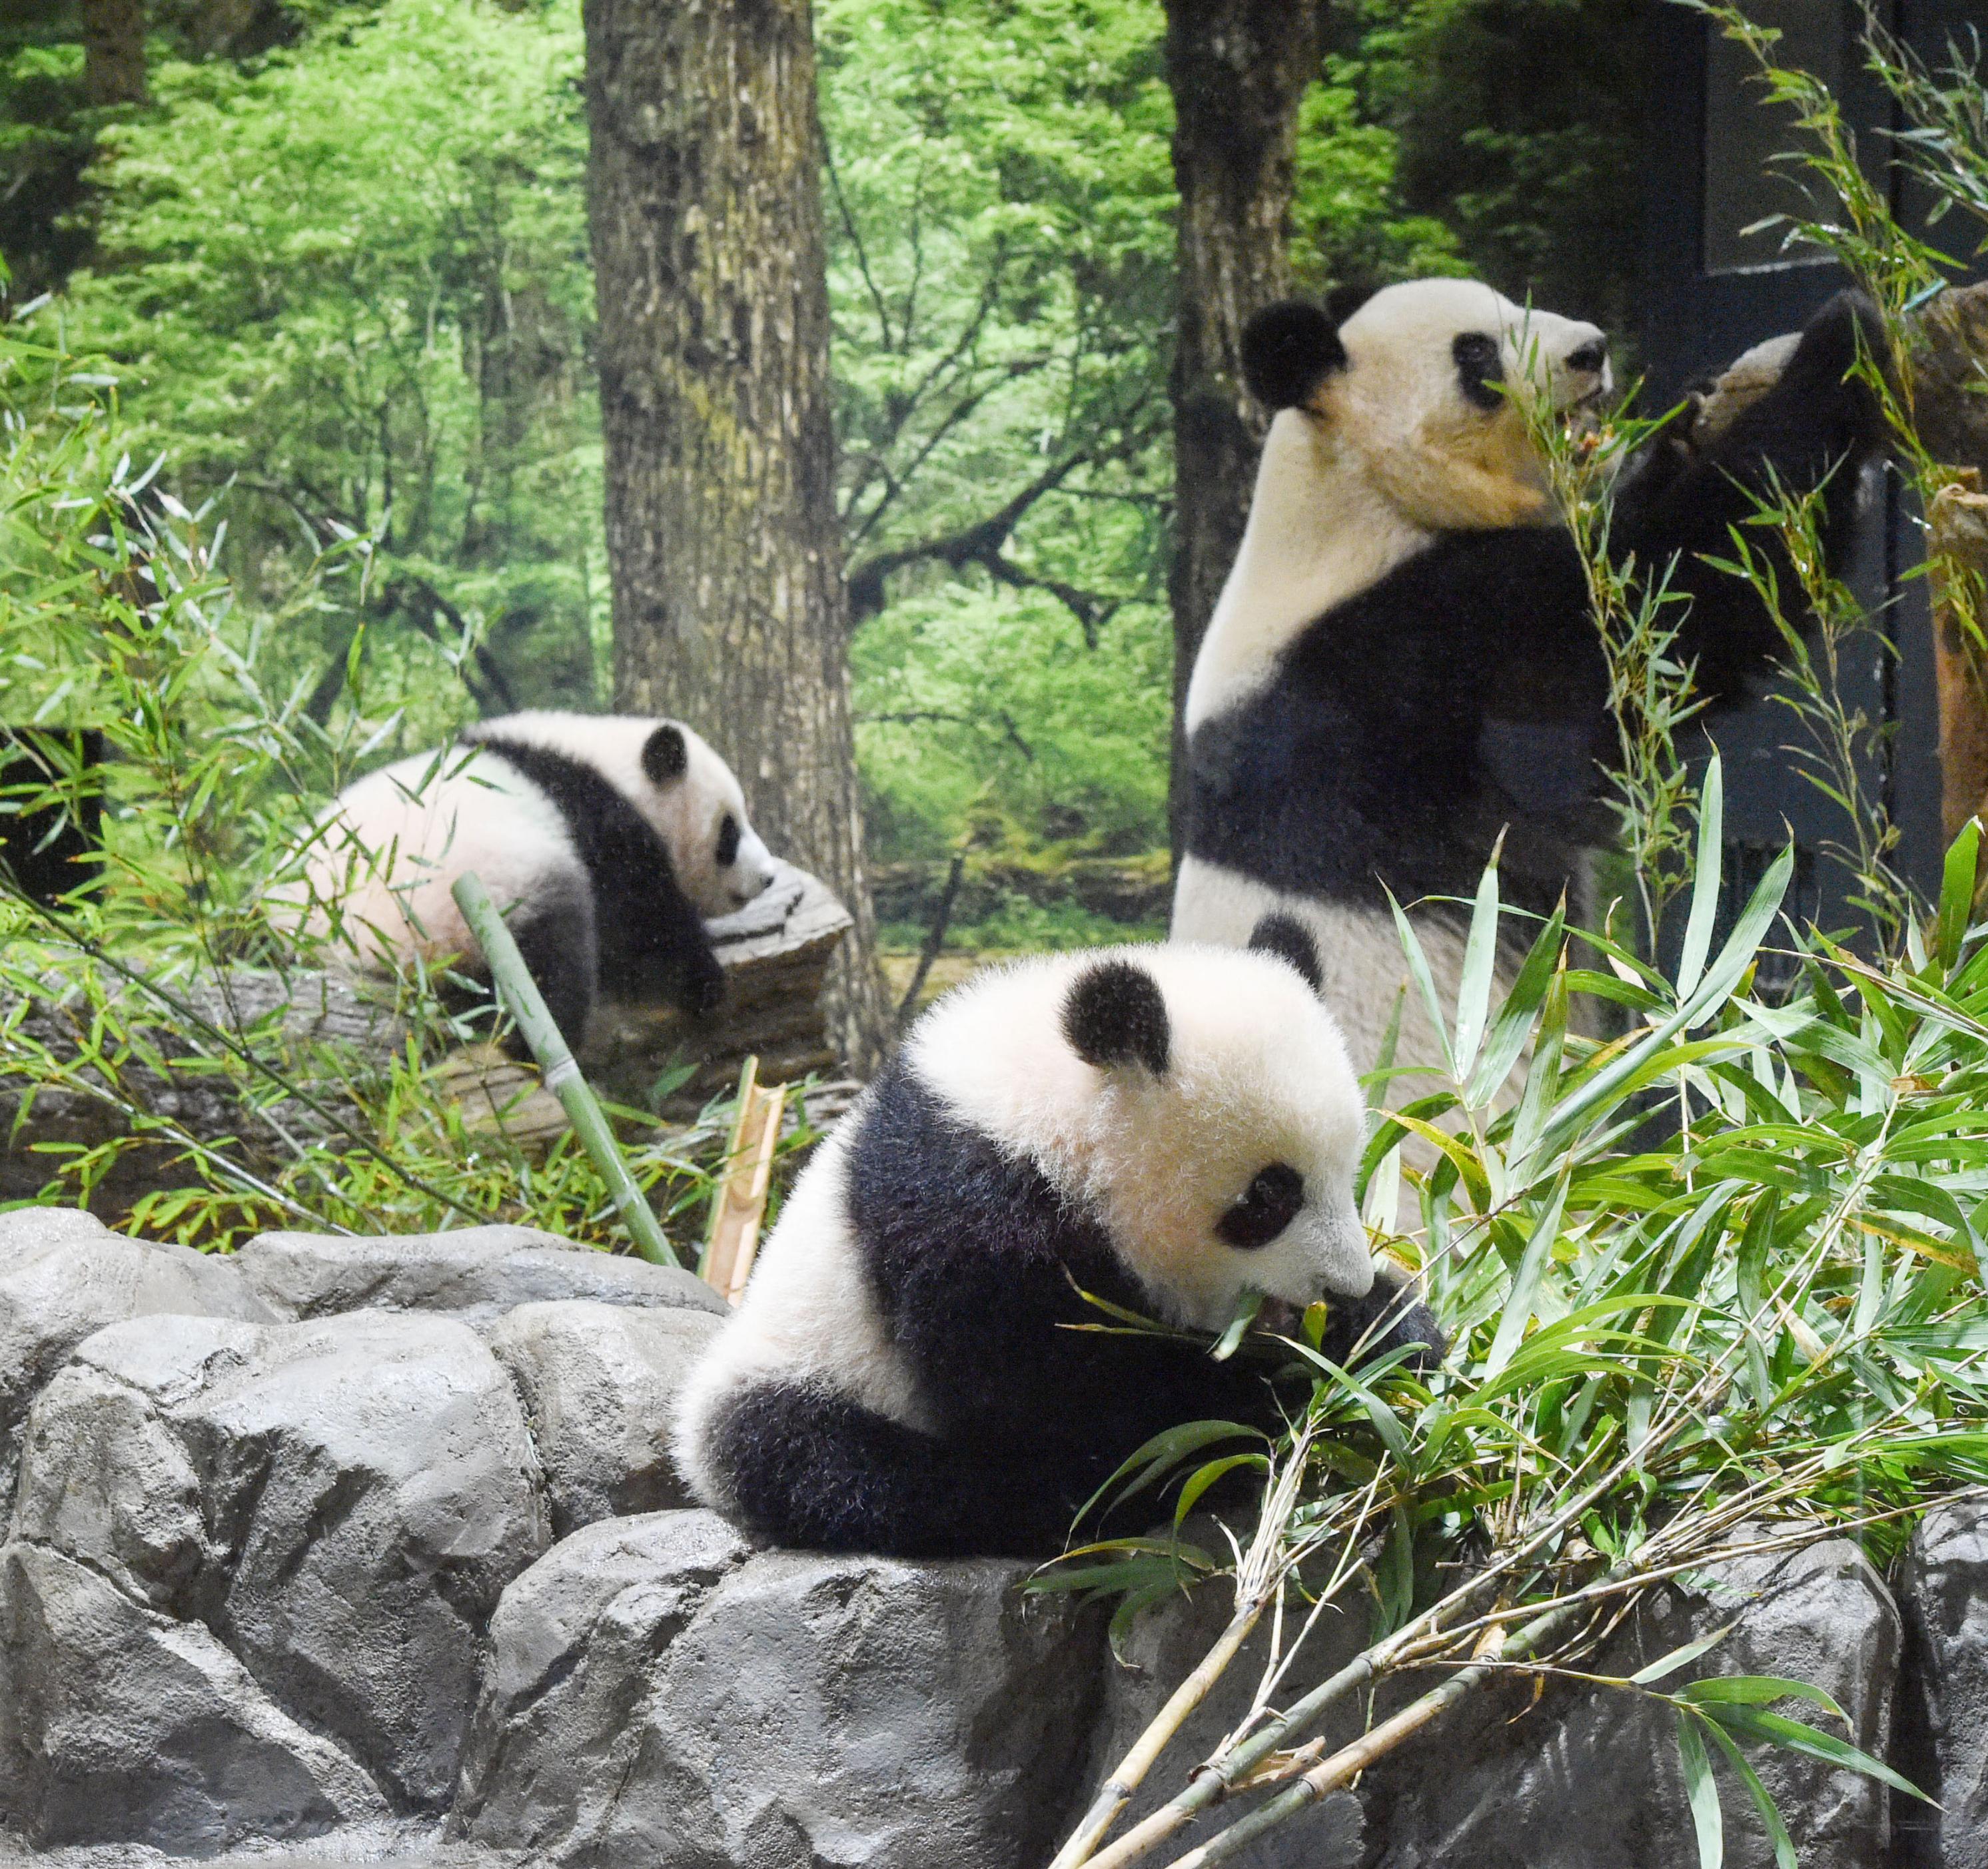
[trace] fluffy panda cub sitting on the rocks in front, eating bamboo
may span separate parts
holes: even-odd
[[[1083,1292],[1217,1332],[1252,1286],[1330,1298],[1336,1358],[1439,1346],[1374,1274],[1360,1088],[1310,942],[1284,923],[1258,946],[1040,956],[940,1000],[686,1384],[696,1495],[779,1545],[1040,1557],[1161,1430],[1280,1424],[1205,1342],[1070,1328],[1105,1322]]]

